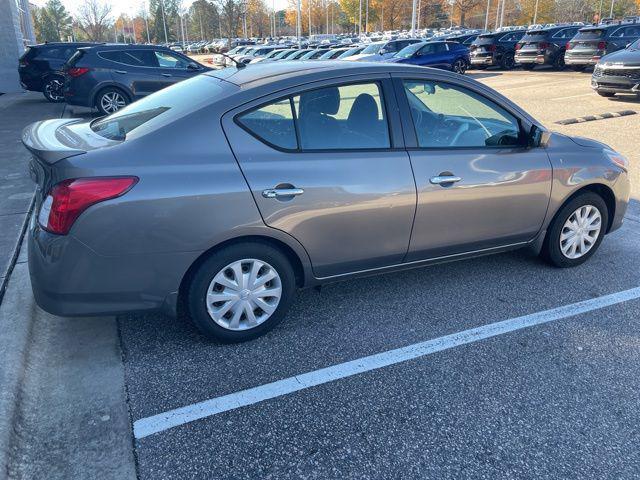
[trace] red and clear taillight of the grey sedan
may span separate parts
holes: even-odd
[[[66,235],[91,205],[127,193],[138,177],[97,177],[64,180],[51,189],[42,203],[38,223],[48,232]]]

